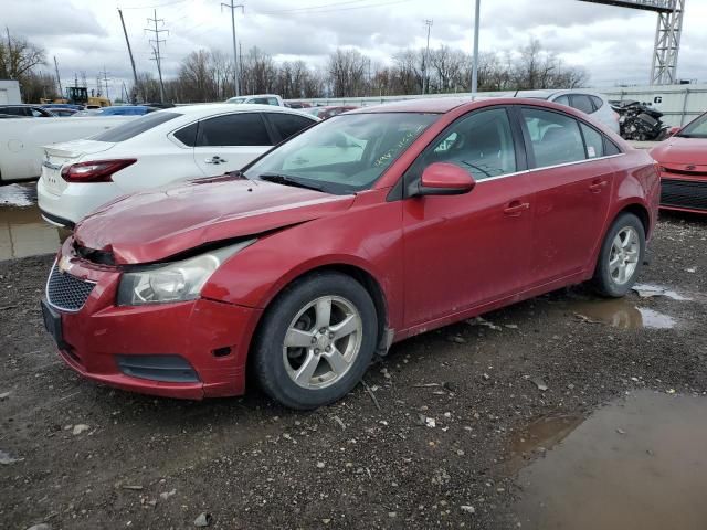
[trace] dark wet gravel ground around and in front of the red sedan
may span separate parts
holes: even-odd
[[[641,282],[692,300],[553,293],[397,344],[312,413],[85,382],[42,329],[52,258],[0,262],[0,527],[527,528],[518,471],[558,441],[534,422],[707,390],[706,251],[707,220],[665,215]]]

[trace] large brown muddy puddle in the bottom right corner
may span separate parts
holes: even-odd
[[[574,427],[518,474],[520,528],[707,528],[706,398],[639,391]]]

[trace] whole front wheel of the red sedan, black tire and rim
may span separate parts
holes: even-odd
[[[339,273],[296,280],[263,317],[253,371],[263,390],[291,409],[333,403],[358,384],[378,343],[376,306]]]

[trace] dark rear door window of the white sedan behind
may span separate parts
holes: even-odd
[[[201,121],[197,147],[272,146],[258,113],[238,113]]]

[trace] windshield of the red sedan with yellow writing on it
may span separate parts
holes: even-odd
[[[283,144],[245,174],[327,193],[355,193],[371,188],[437,118],[416,113],[336,116]]]

